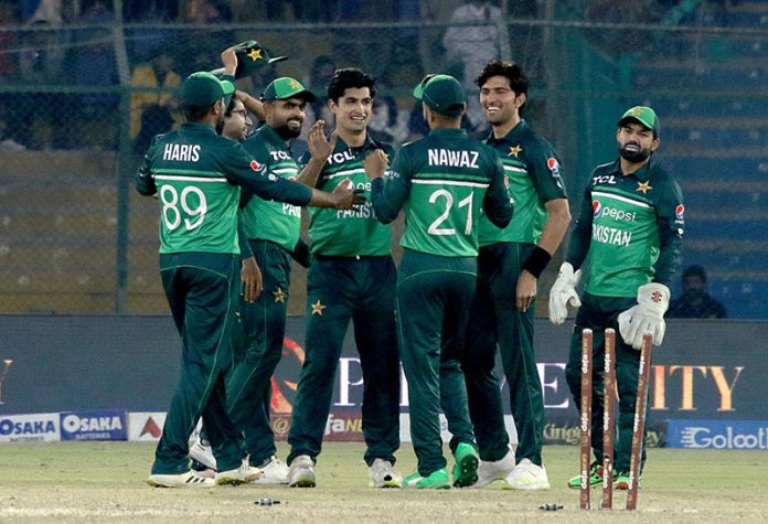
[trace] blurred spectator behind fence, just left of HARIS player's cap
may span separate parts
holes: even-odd
[[[150,63],[134,68],[130,81],[136,89],[164,87],[166,92],[135,90],[130,99],[130,138],[137,151],[149,148],[154,135],[173,126],[173,90],[181,85],[181,76],[173,71],[173,56],[163,49]]]

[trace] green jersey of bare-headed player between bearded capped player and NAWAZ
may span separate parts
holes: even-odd
[[[309,236],[313,255],[354,257],[387,256],[392,253],[391,228],[376,220],[371,204],[371,179],[363,169],[363,160],[376,149],[383,149],[390,158],[394,157],[390,145],[370,136],[359,148],[351,148],[341,138],[337,139],[335,149],[318,177],[317,188],[332,192],[339,182],[350,179],[356,189],[363,190],[366,202],[348,211],[311,208]],[[301,163],[308,161],[309,153],[306,153]]]

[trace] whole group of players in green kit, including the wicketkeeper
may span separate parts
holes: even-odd
[[[160,274],[182,339],[181,377],[149,484],[314,486],[351,321],[371,486],[483,488],[500,481],[510,490],[550,489],[533,314],[538,279],[570,213],[557,153],[521,117],[529,81],[520,65],[491,61],[479,72],[480,107],[491,127],[483,140],[461,127],[468,100],[459,82],[427,75],[414,97],[429,133],[397,151],[367,132],[374,78],[358,68],[337,69],[327,86],[333,131],[318,120],[307,152],[296,158],[291,141],[316,94],[280,77],[255,98],[234,85],[235,49],[222,61],[224,69],[194,73],[182,83],[184,122],[154,138],[136,179],[141,194],[160,201]],[[254,132],[252,115],[260,121]],[[591,484],[602,482],[601,338],[606,329],[620,333],[612,471],[615,485],[627,489],[637,350],[647,332],[654,344],[663,341],[684,206],[679,185],[652,158],[659,120],[651,108],[627,110],[616,140],[618,158],[588,179],[548,311],[562,324],[568,304],[580,307],[566,366],[576,406],[582,331],[595,336]],[[299,236],[301,206],[310,207],[309,245]],[[390,224],[401,212],[404,255],[395,267]],[[292,260],[309,267],[306,356],[282,461],[269,415]],[[504,426],[497,351],[515,448]],[[405,477],[395,463],[401,363],[417,458],[416,471]],[[450,472],[440,413],[451,434]],[[201,418],[201,438],[190,447]],[[577,475],[568,485],[578,489],[580,481]]]

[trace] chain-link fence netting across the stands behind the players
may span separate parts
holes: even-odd
[[[764,2],[657,2],[642,15],[598,9],[611,2],[543,3],[548,12],[537,18],[458,25],[111,17],[0,28],[0,311],[168,311],[158,204],[136,194],[132,173],[152,136],[178,125],[181,79],[256,39],[290,60],[241,81],[242,89],[257,95],[287,75],[322,99],[335,67],[360,66],[377,78],[371,131],[395,145],[426,132],[410,96],[425,73],[451,73],[472,90],[465,125],[480,136],[474,75],[493,56],[520,62],[532,84],[524,117],[561,152],[574,211],[591,168],[616,158],[618,116],[651,105],[661,120],[658,156],[685,194],[684,267],[705,268],[708,292],[729,317],[768,317]],[[584,3],[591,8],[579,11]],[[329,118],[322,101],[307,113],[307,126]],[[302,312],[301,270],[292,288],[290,310]],[[682,291],[676,282],[673,299]]]

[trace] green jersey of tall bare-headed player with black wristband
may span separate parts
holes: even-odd
[[[547,218],[544,204],[566,197],[557,153],[525,120],[500,139],[491,132],[486,143],[495,149],[504,165],[514,216],[500,229],[481,214],[480,246],[498,242],[537,244]]]

